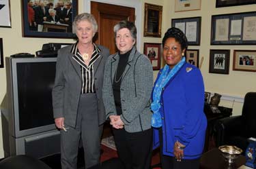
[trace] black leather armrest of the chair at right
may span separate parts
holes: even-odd
[[[216,146],[225,144],[225,137],[231,135],[241,135],[244,128],[244,118],[242,115],[225,117],[216,120],[214,124],[214,132],[216,134]]]

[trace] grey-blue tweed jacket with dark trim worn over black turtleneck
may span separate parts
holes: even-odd
[[[118,62],[118,53],[111,55],[106,61],[102,89],[106,118],[110,115],[117,115],[112,83]],[[145,55],[133,48],[120,87],[122,105],[122,115],[120,117],[127,132],[141,132],[151,128],[150,95],[152,86],[152,64]]]

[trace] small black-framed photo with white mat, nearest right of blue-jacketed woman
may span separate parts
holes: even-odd
[[[229,74],[230,50],[210,50],[209,73]]]

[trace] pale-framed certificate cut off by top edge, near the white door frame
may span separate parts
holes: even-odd
[[[201,0],[175,0],[175,12],[201,10]]]

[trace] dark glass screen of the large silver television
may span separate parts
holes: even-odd
[[[17,62],[20,130],[54,124],[51,90],[56,62]]]

